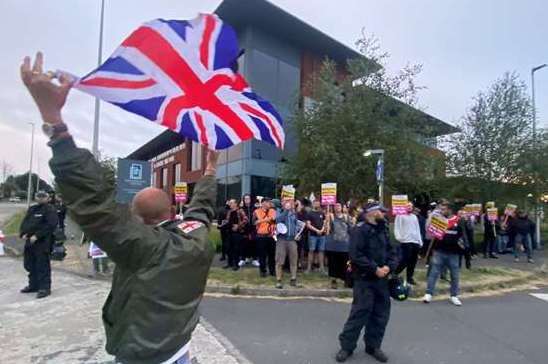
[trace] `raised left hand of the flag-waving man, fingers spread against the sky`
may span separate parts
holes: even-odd
[[[59,84],[53,83],[55,75],[52,72],[43,73],[43,64],[44,56],[41,52],[36,53],[32,68],[30,57],[25,57],[21,65],[21,79],[38,106],[44,122],[60,123],[61,109],[72,87],[72,80],[61,75]]]

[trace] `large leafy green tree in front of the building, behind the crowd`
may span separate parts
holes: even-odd
[[[425,131],[417,125],[424,115],[410,107],[416,106],[422,88],[415,83],[422,67],[410,65],[391,75],[383,67],[389,55],[375,38],[364,35],[357,45],[364,57],[349,62],[346,77],[326,59],[308,85],[315,102],[298,109],[292,119],[290,132],[298,150],[286,157],[283,179],[306,194],[329,181],[338,182],[343,199],[376,196],[375,160],[363,153],[382,148],[388,190],[424,191],[441,160],[418,142]]]

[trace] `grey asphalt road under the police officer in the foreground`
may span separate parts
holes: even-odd
[[[537,293],[548,293],[548,290]],[[250,361],[331,364],[349,304],[207,298],[204,317]],[[529,292],[430,305],[393,305],[384,349],[394,364],[545,364],[548,302]],[[349,363],[374,363],[364,344]]]

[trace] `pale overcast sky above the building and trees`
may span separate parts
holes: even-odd
[[[212,12],[220,0],[107,0],[103,59],[141,23],[189,19]],[[362,28],[391,54],[389,71],[420,63],[425,111],[458,123],[478,91],[505,71],[530,86],[531,67],[548,63],[545,0],[272,0],[336,40],[354,47]],[[100,0],[0,1],[0,163],[29,168],[31,125],[36,125],[34,171],[50,180],[51,152],[40,116],[19,79],[25,55],[41,50],[45,68],[84,75],[97,64]],[[548,68],[536,73],[538,120],[548,126]],[[251,85],[253,86],[253,85]],[[94,99],[73,90],[63,116],[79,146],[90,148]],[[112,105],[101,104],[99,148],[125,157],[163,131]],[[2,176],[0,176],[1,178]]]

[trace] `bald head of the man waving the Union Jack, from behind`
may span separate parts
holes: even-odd
[[[147,187],[135,195],[133,213],[146,225],[157,225],[171,218],[171,200],[163,190]]]

